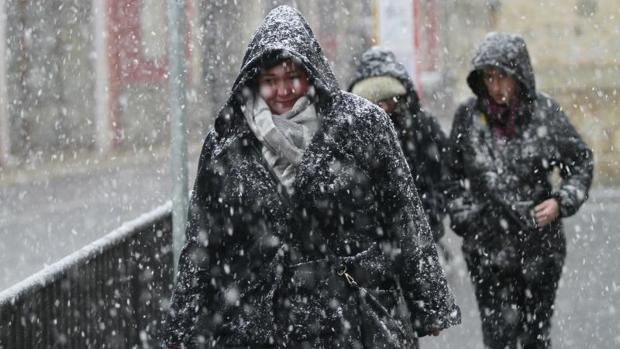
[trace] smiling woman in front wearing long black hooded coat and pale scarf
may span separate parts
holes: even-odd
[[[200,155],[165,345],[378,348],[458,323],[406,169],[301,14],[272,10]]]

